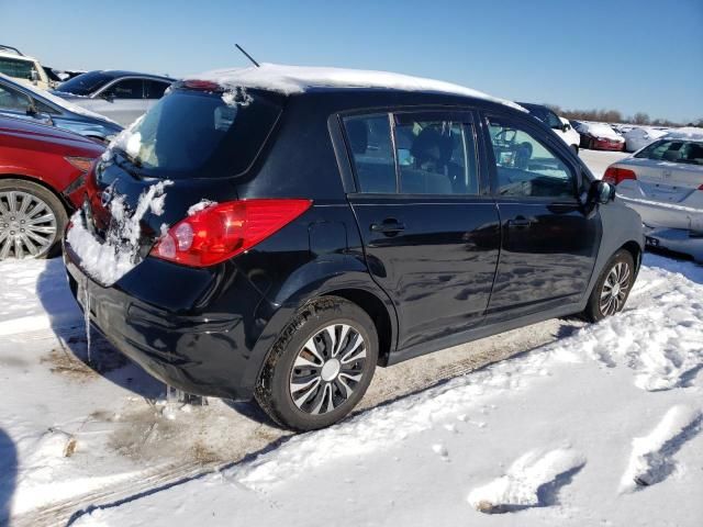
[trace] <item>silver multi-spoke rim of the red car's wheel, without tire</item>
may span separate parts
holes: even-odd
[[[37,197],[19,190],[0,192],[0,260],[37,257],[56,237],[56,216]]]

